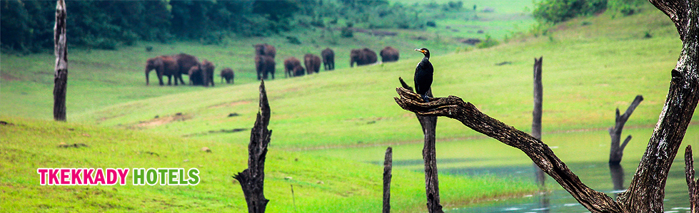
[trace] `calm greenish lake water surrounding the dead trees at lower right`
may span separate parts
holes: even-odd
[[[624,134],[633,135],[633,140],[626,147],[621,167],[613,169],[610,169],[607,164],[609,135],[606,130],[544,135],[544,142],[568,165],[575,175],[580,177],[585,185],[615,198],[616,193],[623,192],[628,187],[652,132],[652,128],[625,130]],[[699,127],[697,125],[690,125],[685,135],[685,142],[680,146],[680,151],[670,169],[665,186],[665,212],[690,211],[684,172],[684,149],[687,145],[699,147]],[[386,147],[351,147],[303,152],[383,165],[383,154]],[[421,155],[423,145],[421,142],[392,145],[392,147],[394,169],[423,171]],[[440,175],[496,175],[497,177],[535,183],[534,167],[531,160],[520,150],[490,138],[438,140],[436,151]],[[697,153],[696,150],[695,153]],[[552,178],[546,177],[545,182],[550,191],[548,193],[535,193],[521,198],[472,204],[468,207],[446,208],[445,212],[588,212],[588,209],[575,201]]]

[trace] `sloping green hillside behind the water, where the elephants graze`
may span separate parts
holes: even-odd
[[[645,38],[646,33],[652,38]],[[446,55],[446,47],[436,46],[431,58],[436,69],[433,92],[437,96],[460,96],[493,118],[526,131],[532,101],[532,58],[544,56],[544,131],[608,128],[613,124],[614,109],[623,110],[638,94],[645,100],[628,126],[652,126],[665,101],[669,71],[680,49],[673,24],[650,7],[635,16],[612,19],[603,14],[575,19],[546,36],[513,40],[495,48]],[[257,83],[251,83],[251,47],[242,43],[262,41],[275,43],[273,38],[250,38],[236,41],[238,45],[231,48],[183,43],[156,46],[156,53],[140,48],[73,51],[68,118],[244,144],[247,134],[221,130],[246,128],[253,123]],[[338,49],[348,51],[362,42],[343,43]],[[412,48],[432,48],[430,42],[435,41],[409,44],[396,38],[396,42],[406,42],[396,45],[401,51],[401,61],[396,63],[343,68],[342,61],[348,61],[348,56],[339,54],[336,71],[268,81],[273,113],[270,128],[276,131],[272,146],[354,146],[420,140],[414,115],[393,103],[394,88],[399,85],[398,77],[412,81],[414,66],[421,57]],[[278,58],[301,55],[312,48],[291,47],[279,45]],[[234,69],[242,73],[239,83],[215,88],[144,85],[144,58],[180,51],[215,62],[231,61],[218,62],[217,66],[238,66]],[[2,114],[51,118],[51,57],[3,57]],[[503,62],[506,64],[497,65]],[[101,73],[114,77],[105,78]],[[239,116],[228,117],[231,113]],[[453,120],[442,119],[438,125],[437,137],[441,140],[477,135]]]

